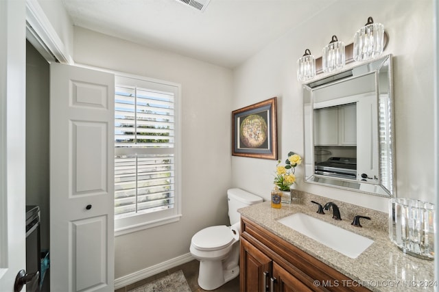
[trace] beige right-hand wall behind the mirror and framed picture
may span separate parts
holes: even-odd
[[[296,60],[305,49],[320,57],[333,34],[346,44],[368,16],[383,23],[394,55],[396,187],[399,197],[434,202],[434,54],[433,7],[430,0],[334,1],[300,23],[234,71],[232,109],[278,96],[278,152],[303,154],[301,87]],[[268,199],[276,161],[232,158],[232,184]],[[387,211],[388,200],[303,182],[297,189],[364,207]]]

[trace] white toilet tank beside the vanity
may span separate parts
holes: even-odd
[[[228,189],[228,218],[230,219],[230,225],[233,225],[241,219],[241,215],[238,213],[239,208],[244,208],[252,204],[262,202],[263,199],[255,194],[244,191],[244,189]]]

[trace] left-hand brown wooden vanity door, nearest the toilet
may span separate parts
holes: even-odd
[[[240,289],[241,292],[267,291],[268,275],[271,275],[272,260],[246,239],[241,241]]]

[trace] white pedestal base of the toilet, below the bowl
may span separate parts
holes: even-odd
[[[214,290],[239,275],[239,265],[223,269],[222,261],[200,261],[198,286],[203,290]]]

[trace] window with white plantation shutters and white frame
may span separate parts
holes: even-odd
[[[179,220],[180,85],[116,76],[115,233]]]

